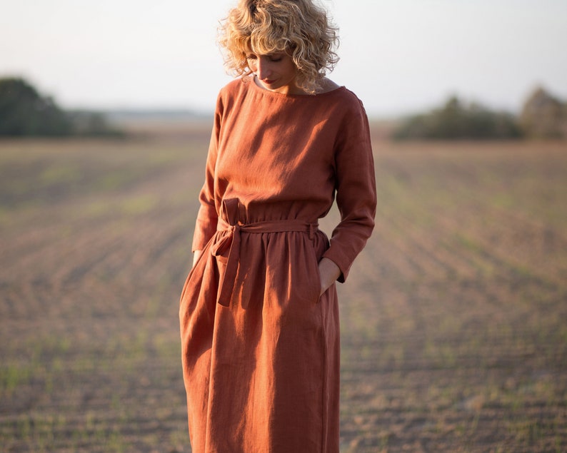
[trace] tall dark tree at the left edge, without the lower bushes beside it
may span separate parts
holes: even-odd
[[[0,79],[1,136],[66,136],[73,126],[52,98],[22,78]]]

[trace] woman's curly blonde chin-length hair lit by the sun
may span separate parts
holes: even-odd
[[[235,76],[252,73],[246,60],[250,51],[285,52],[296,65],[297,86],[313,94],[338,61],[337,31],[313,0],[240,0],[221,21],[219,44]]]

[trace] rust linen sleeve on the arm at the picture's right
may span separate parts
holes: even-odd
[[[323,255],[341,270],[339,282],[361,252],[374,228],[376,176],[366,112],[350,112],[338,133],[335,151],[336,203],[341,221],[333,230],[331,245]]]

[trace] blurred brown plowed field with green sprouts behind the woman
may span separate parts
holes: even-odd
[[[208,136],[0,142],[0,451],[190,452],[177,310]],[[375,152],[341,452],[567,451],[567,144]]]

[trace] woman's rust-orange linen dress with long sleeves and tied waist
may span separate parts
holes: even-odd
[[[251,78],[222,88],[180,304],[194,453],[338,453],[335,285],[371,235],[368,120],[344,87],[287,95]],[[336,202],[331,240],[317,228]]]

